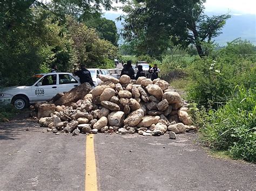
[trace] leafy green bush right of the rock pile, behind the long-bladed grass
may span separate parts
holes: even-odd
[[[238,84],[246,88],[255,87],[255,69],[255,63],[244,59],[229,63],[223,58],[216,61],[198,58],[188,69],[193,81],[188,88],[188,100],[198,103],[198,107],[203,105],[208,108],[211,105],[218,109],[219,105],[226,103]]]

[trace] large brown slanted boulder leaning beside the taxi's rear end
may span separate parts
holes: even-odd
[[[71,103],[76,103],[78,100],[83,100],[84,96],[91,90],[92,87],[89,83],[80,84],[80,86],[77,86],[65,93],[62,97],[55,101],[54,104],[70,106]]]

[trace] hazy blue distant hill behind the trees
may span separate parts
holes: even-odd
[[[207,15],[219,14],[209,12]],[[119,16],[119,13],[104,14],[105,18],[113,20],[116,23],[118,30],[122,29],[122,22],[117,22],[116,20]],[[251,43],[256,45],[256,15],[232,15],[231,18],[227,20],[222,32],[219,37],[215,38],[215,43],[219,45],[225,45],[226,42],[236,38],[250,40]],[[122,44],[122,41],[119,41],[119,44],[120,43]]]

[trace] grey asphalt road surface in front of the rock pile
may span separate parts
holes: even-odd
[[[30,119],[0,124],[0,190],[84,190],[88,137],[42,131]],[[212,158],[195,137],[95,135],[98,189],[256,188],[255,165]]]

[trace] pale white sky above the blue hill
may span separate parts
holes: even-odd
[[[113,5],[121,6],[120,3]],[[231,15],[256,15],[256,0],[207,0],[205,3],[206,12],[230,13]],[[122,13],[121,10],[107,11],[110,13]]]

